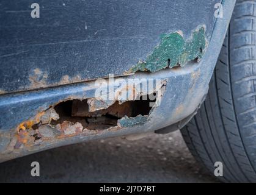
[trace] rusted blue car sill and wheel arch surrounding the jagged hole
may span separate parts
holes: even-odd
[[[163,89],[161,90],[161,102],[158,106],[152,107],[148,115],[144,117],[124,117],[120,119],[125,121],[124,123],[119,122],[122,124],[110,129],[90,131],[82,129],[78,132],[68,132],[68,134],[65,134],[65,130],[64,134],[58,132],[57,126],[45,124],[41,127],[47,128],[51,137],[37,138],[34,135],[38,131],[38,127],[32,128],[32,125],[38,122],[38,119],[40,121],[47,110],[54,108],[60,102],[71,99],[95,100],[95,91],[98,88],[95,80],[40,90],[2,94],[0,96],[0,161],[81,141],[153,132],[167,126],[180,129],[196,113],[207,94],[208,83],[229,26],[235,1],[223,1],[222,5],[225,14],[223,18],[216,19],[211,34],[208,31],[206,35],[208,45],[199,61],[194,60],[183,67],[161,69],[155,73],[137,72],[122,77],[114,75],[114,77],[107,79],[114,81],[117,79],[144,79],[146,82],[149,82],[150,79],[161,80],[163,83],[161,85],[161,89]],[[206,29],[208,29],[207,26]],[[189,33],[186,33],[185,37],[191,35],[193,30],[188,30],[187,27],[186,31]],[[111,73],[111,71],[106,73]],[[108,101],[103,101],[103,103],[108,103]],[[105,108],[108,107],[109,105],[105,106]],[[70,124],[79,126],[75,122]],[[56,132],[60,133],[61,136],[55,134]]]

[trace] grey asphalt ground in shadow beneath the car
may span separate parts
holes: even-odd
[[[31,176],[31,162],[40,177]],[[0,164],[0,182],[217,182],[189,153],[179,131],[58,147]]]

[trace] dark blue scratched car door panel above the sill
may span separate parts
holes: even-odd
[[[158,46],[162,34],[198,26],[207,40],[221,0],[2,1],[0,93],[126,75]]]

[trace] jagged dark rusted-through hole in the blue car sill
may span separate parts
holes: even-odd
[[[156,101],[155,99],[150,100],[150,98],[147,95],[141,96],[139,100],[126,101],[122,104],[115,102],[108,108],[95,112],[89,112],[87,99],[60,102],[54,107],[59,119],[57,121],[52,120],[51,125],[56,126],[64,121],[69,121],[73,123],[80,122],[84,128],[89,130],[108,129],[109,127],[117,126],[117,120],[124,116],[148,115],[152,108],[150,107],[150,102]]]

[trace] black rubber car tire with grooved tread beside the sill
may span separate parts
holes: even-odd
[[[224,13],[225,14],[225,13]],[[236,1],[205,102],[181,129],[194,157],[223,182],[256,182],[256,0]]]

